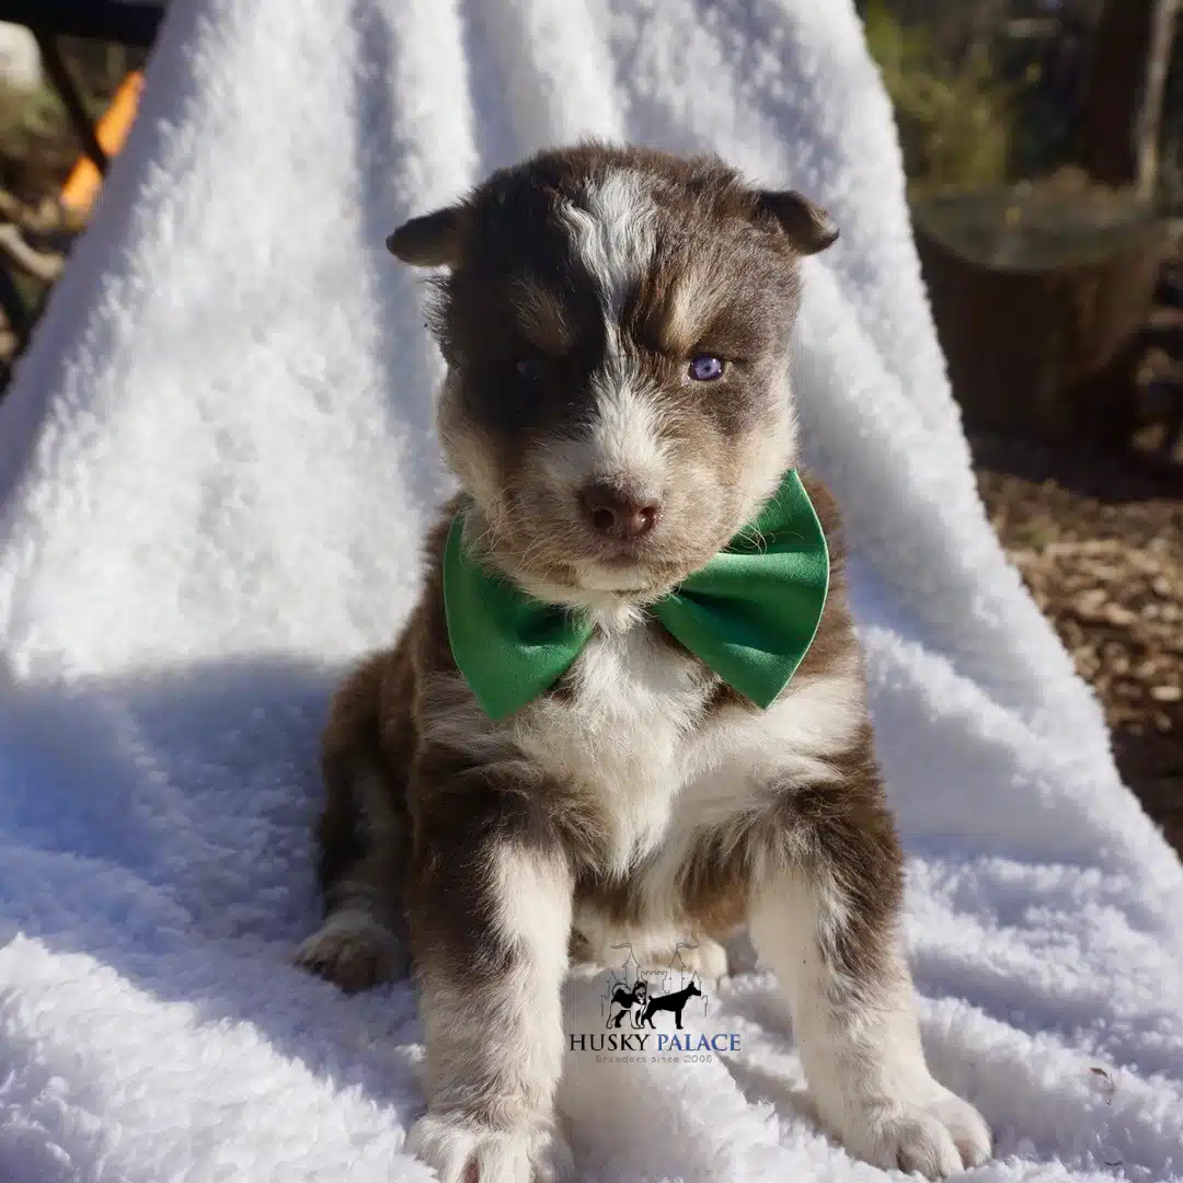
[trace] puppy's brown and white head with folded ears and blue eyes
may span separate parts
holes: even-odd
[[[396,231],[396,256],[448,267],[440,438],[492,560],[596,606],[655,599],[726,545],[794,463],[797,261],[835,238],[718,161],[595,146]]]

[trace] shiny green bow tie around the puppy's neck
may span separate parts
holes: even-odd
[[[774,703],[813,644],[829,589],[829,551],[795,468],[748,530],[647,609],[757,706]],[[549,690],[594,626],[487,571],[457,513],[444,550],[444,607],[455,664],[489,716]]]

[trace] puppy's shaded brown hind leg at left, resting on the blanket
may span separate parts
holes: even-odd
[[[357,670],[334,700],[324,736],[327,797],[317,826],[324,922],[295,959],[347,994],[411,968],[402,901],[409,715],[400,718],[402,704],[390,694],[399,689],[401,659],[399,652],[382,654]],[[384,729],[383,707],[395,712]]]

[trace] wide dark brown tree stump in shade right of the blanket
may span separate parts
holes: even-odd
[[[913,201],[924,280],[968,431],[1129,442],[1163,233],[1130,196],[1112,209],[1093,200],[1045,190],[1026,205],[968,193]],[[1010,212],[1021,214],[1013,228]]]

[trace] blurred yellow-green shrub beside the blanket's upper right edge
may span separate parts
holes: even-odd
[[[943,60],[927,30],[904,25],[886,0],[868,0],[864,20],[913,187],[1004,182],[1020,88],[995,76],[989,51],[976,46],[962,63]]]

